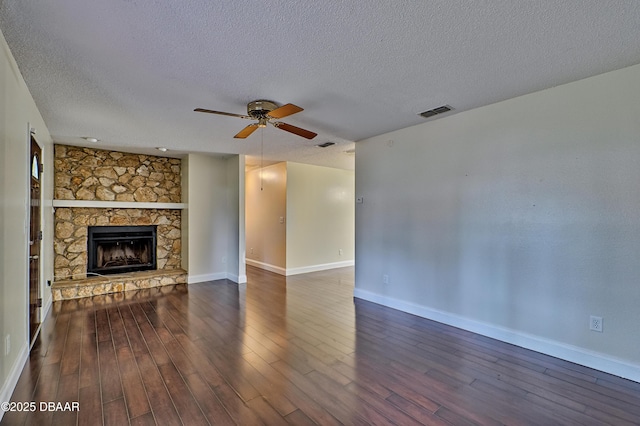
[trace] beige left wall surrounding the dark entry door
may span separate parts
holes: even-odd
[[[53,144],[0,34],[0,401],[9,400],[28,351],[29,127],[37,131],[45,164],[41,290],[46,311],[51,292],[45,283],[53,279]]]

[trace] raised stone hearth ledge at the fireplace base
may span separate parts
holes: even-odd
[[[81,280],[56,281],[51,286],[53,301],[79,299],[123,291],[143,290],[154,287],[184,284],[187,273],[182,269],[142,271],[91,277]]]

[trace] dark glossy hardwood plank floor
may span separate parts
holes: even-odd
[[[352,268],[248,275],[56,302],[2,424],[640,424],[639,383],[354,301]]]

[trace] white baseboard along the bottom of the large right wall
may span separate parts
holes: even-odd
[[[437,321],[453,327],[462,328],[473,333],[491,337],[506,343],[511,343],[536,352],[561,358],[569,362],[584,365],[605,373],[640,382],[640,365],[619,360],[608,355],[590,351],[577,346],[567,345],[558,341],[544,339],[520,331],[511,330],[492,324],[475,321],[448,312],[431,309],[404,300],[372,293],[355,288],[353,296],[389,308],[398,309],[413,315]]]

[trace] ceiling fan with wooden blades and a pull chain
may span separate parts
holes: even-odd
[[[210,109],[204,108],[196,108],[194,109],[194,111],[206,112],[208,114],[228,115],[230,117],[245,118],[248,120],[258,120],[257,123],[249,124],[247,127],[240,130],[240,132],[238,132],[238,134],[234,136],[234,138],[238,139],[244,139],[248,137],[259,127],[267,127],[267,123],[280,130],[302,136],[303,138],[313,139],[317,136],[316,133],[313,133],[309,130],[301,129],[300,127],[292,126],[291,124],[283,123],[281,121],[273,121],[302,111],[302,108],[294,104],[286,104],[279,107],[275,104],[275,102],[260,99],[257,101],[249,102],[247,104],[247,115],[234,114],[231,112],[212,111]]]

